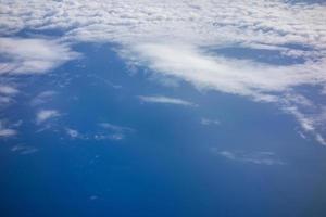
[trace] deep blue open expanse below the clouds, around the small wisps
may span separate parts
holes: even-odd
[[[14,110],[2,111],[24,124],[16,139],[1,140],[1,216],[326,216],[325,148],[302,140],[292,117],[271,104],[199,92],[184,82],[166,88],[151,81],[146,68],[129,75],[112,48],[78,44],[83,59],[22,78],[24,94]],[[47,90],[58,95],[30,106]],[[199,106],[137,98],[152,94]],[[37,132],[39,108],[63,116]],[[202,117],[221,125],[203,126]],[[135,132],[121,141],[97,141],[71,139],[63,130],[95,133],[105,122]],[[10,151],[16,144],[39,151],[20,155]],[[230,161],[212,150],[271,151],[286,165]]]

